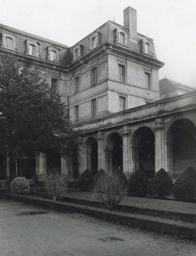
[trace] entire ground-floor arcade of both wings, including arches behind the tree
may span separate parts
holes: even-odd
[[[196,119],[196,118],[195,118]],[[72,154],[72,159],[63,159],[55,152],[50,157],[23,159],[29,167],[30,178],[33,173],[43,177],[47,168],[61,168],[62,173],[84,172],[85,169],[96,173],[103,168],[123,170],[127,177],[138,168],[152,177],[159,169],[164,168],[173,179],[191,165],[196,168],[196,120],[186,116],[174,118],[156,118],[143,121],[142,125],[126,124],[116,129],[97,130],[83,135],[84,145]],[[52,161],[54,160],[54,161]],[[21,163],[18,163],[19,165]],[[0,151],[0,179],[8,175],[6,158]],[[19,170],[19,169],[18,169]]]

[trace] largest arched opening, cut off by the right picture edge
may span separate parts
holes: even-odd
[[[196,128],[192,121],[179,119],[170,127],[170,170],[173,170],[173,178],[189,166],[196,167]]]

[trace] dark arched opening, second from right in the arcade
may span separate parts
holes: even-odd
[[[135,169],[143,170],[151,178],[155,173],[154,133],[148,127],[141,127],[135,136]]]

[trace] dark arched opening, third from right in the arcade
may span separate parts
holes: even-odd
[[[108,162],[108,170],[120,168],[123,170],[123,140],[121,136],[114,132],[108,140],[108,150],[105,151],[105,159]]]

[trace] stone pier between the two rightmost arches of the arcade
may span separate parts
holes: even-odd
[[[155,172],[158,172],[161,168],[165,169],[164,132],[164,118],[157,118],[155,120]]]

